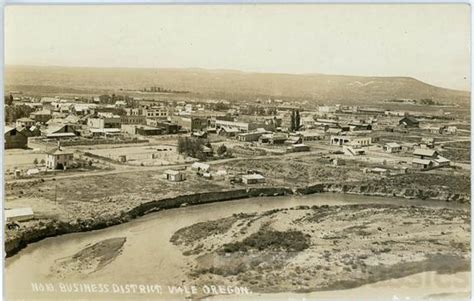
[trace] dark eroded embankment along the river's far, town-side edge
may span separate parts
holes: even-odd
[[[128,212],[116,212],[112,218],[97,216],[94,219],[74,219],[60,221],[55,219],[37,219],[28,224],[22,224],[20,229],[6,230],[5,252],[7,257],[16,254],[29,243],[37,242],[47,237],[98,230],[113,225],[125,223],[145,214],[182,206],[199,205],[212,202],[222,202],[259,196],[283,196],[291,194],[314,194],[323,192],[337,192],[347,194],[362,194],[372,196],[404,197],[417,199],[433,199],[469,203],[469,195],[442,192],[437,190],[414,189],[386,189],[381,185],[367,185],[361,183],[321,183],[301,188],[288,187],[256,187],[248,189],[234,189],[218,192],[203,192],[181,195],[173,198],[158,199],[143,203]]]

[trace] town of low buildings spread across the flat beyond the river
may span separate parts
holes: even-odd
[[[36,198],[28,202],[18,185],[43,185],[62,177],[113,178],[143,171],[153,173],[154,185],[176,182],[171,189],[179,190],[180,182],[189,182],[183,187],[199,190],[206,185],[341,183],[350,181],[351,173],[358,180],[380,180],[420,173],[424,178],[452,178],[470,172],[469,116],[451,112],[455,106],[427,112],[431,107],[416,106],[416,101],[395,110],[384,109],[383,103],[308,105],[275,98],[234,104],[183,100],[181,92],[162,90],[144,88],[156,92],[134,96],[6,95],[8,221],[18,226],[15,222],[25,217],[51,210]],[[313,166],[290,166],[301,159]],[[265,166],[275,161],[276,167]],[[322,174],[312,174],[316,169]],[[345,171],[343,178],[340,171]],[[57,203],[57,188],[50,194],[48,189],[42,198]],[[467,191],[457,191],[456,198],[462,193]],[[26,206],[15,208],[18,198]]]

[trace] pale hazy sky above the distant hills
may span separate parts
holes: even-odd
[[[412,76],[470,89],[470,8],[7,6],[5,63]]]

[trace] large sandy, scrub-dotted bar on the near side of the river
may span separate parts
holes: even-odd
[[[423,271],[469,270],[470,214],[300,206],[198,223],[171,241],[194,259],[189,276],[197,285],[212,281],[265,293],[344,289]]]

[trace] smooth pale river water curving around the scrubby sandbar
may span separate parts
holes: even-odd
[[[430,207],[469,208],[467,205],[446,202],[360,195],[314,194],[308,196],[249,198],[171,209],[152,213],[107,229],[47,238],[29,245],[15,256],[6,259],[6,295],[8,300],[47,300],[53,298],[62,300],[78,298],[82,300],[110,300],[112,298],[152,300],[160,297],[164,299],[169,299],[170,297],[184,299],[184,294],[170,295],[168,292],[168,286],[183,284],[183,280],[186,278],[185,273],[189,270],[190,264],[190,259],[183,256],[180,250],[169,242],[176,230],[197,222],[214,220],[240,212],[261,212],[298,205],[343,205],[354,203],[396,203]],[[66,278],[61,278],[52,272],[51,267],[57,260],[71,256],[89,244],[95,244],[104,239],[115,237],[127,238],[123,252],[101,270],[88,275],[74,274]],[[435,280],[434,283],[436,281],[451,281],[451,278],[455,277],[458,282],[463,283],[463,285],[458,285],[455,291],[465,292],[469,290],[469,274],[439,275],[431,273],[429,277],[431,280]],[[433,281],[431,282],[433,283]],[[64,293],[61,291],[61,289],[65,289],[64,286],[61,286],[62,284],[72,283],[104,284],[108,285],[109,290],[107,293],[88,292],[87,294]],[[123,290],[121,291],[120,289],[123,289],[127,284],[155,285],[155,288],[156,285],[160,285],[162,291],[160,293],[156,291],[148,292],[147,294],[121,294],[120,292],[123,292]],[[364,290],[364,287],[360,289]],[[394,284],[392,283],[390,287],[394,287]],[[436,296],[441,294],[440,296],[443,296],[445,293],[452,293],[452,291],[440,290],[439,286],[431,284],[417,287],[418,291],[423,290],[423,288],[427,289],[423,291],[424,296],[430,294]],[[386,297],[393,299],[393,295],[393,292],[387,291]],[[255,297],[255,295],[253,296]],[[275,294],[267,295],[266,297],[296,300],[301,298],[312,299],[317,296],[326,298],[334,296],[334,294],[320,292],[313,295]],[[344,296],[344,294],[340,296]],[[377,296],[380,297],[380,295]],[[357,297],[357,295],[353,297]]]

